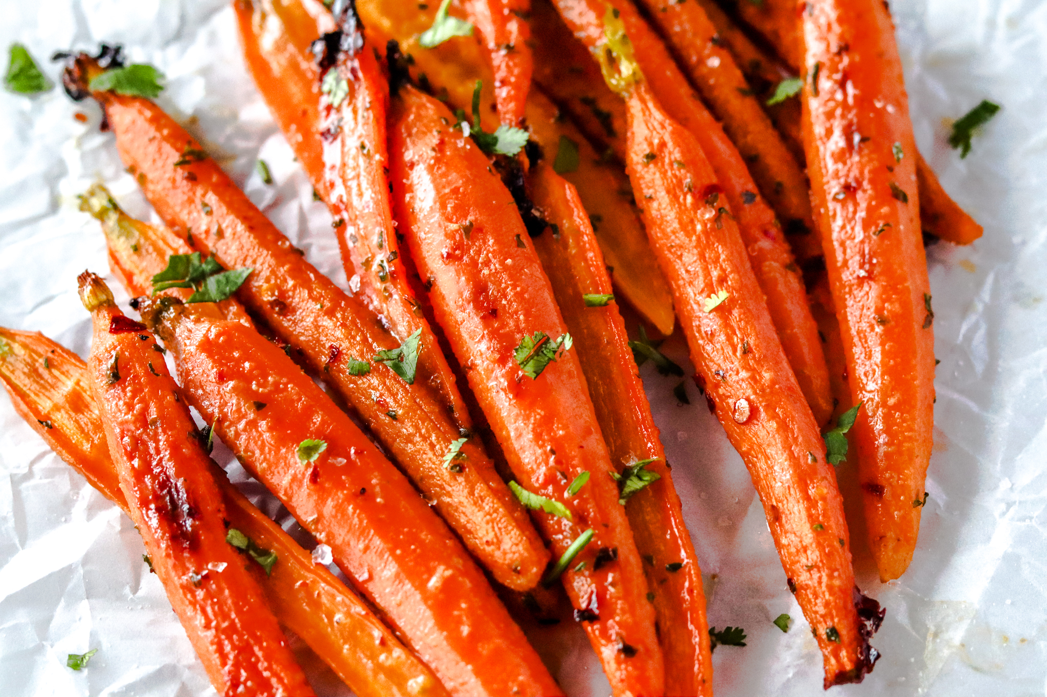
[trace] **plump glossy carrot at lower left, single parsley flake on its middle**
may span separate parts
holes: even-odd
[[[280,348],[205,303],[148,301],[142,318],[190,402],[449,692],[561,694],[447,526]]]

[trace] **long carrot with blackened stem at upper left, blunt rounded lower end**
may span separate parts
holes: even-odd
[[[89,69],[90,60],[82,56],[70,68],[81,75],[70,80],[82,80]],[[549,553],[526,511],[475,439],[462,446],[469,468],[455,473],[444,466],[444,457],[468,434],[427,386],[411,385],[394,370],[403,371],[400,357],[409,356],[386,353],[396,351],[397,342],[379,319],[308,263],[214,160],[176,165],[186,159],[186,148],[200,152],[199,145],[156,104],[110,92],[94,96],[120,157],[139,176],[161,219],[176,234],[192,233],[195,249],[225,268],[253,269],[238,292],[244,305],[344,396],[499,583],[534,586]],[[360,374],[359,362],[370,362],[366,374]]]

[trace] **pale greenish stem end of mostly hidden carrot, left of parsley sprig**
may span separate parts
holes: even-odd
[[[168,266],[172,256],[193,254],[193,248],[171,230],[149,225],[128,215],[102,184],[93,184],[80,196],[80,209],[102,223],[109,250],[109,268],[132,296],[149,295],[153,276]],[[165,295],[187,300],[193,291],[171,287]],[[254,322],[236,298],[218,303],[227,320],[253,327]]]

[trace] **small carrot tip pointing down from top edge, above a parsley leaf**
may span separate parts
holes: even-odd
[[[463,5],[491,61],[498,118],[506,125],[524,125],[533,71],[526,19],[530,0],[465,0]]]

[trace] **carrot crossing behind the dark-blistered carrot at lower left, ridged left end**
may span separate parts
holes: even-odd
[[[127,512],[84,362],[40,333],[0,328],[0,380],[16,411],[59,457]],[[217,466],[211,470],[229,527],[276,554],[269,574],[260,564],[247,566],[284,626],[357,695],[447,695],[365,602],[314,563],[308,552],[229,484],[224,472]]]

